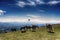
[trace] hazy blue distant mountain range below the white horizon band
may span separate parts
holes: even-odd
[[[31,26],[33,25],[34,23],[26,23],[26,22],[0,22],[0,28],[2,27],[5,27],[5,28],[8,28],[8,27],[23,27],[23,26]],[[34,24],[34,25],[37,25],[37,26],[43,26],[45,24]]]

